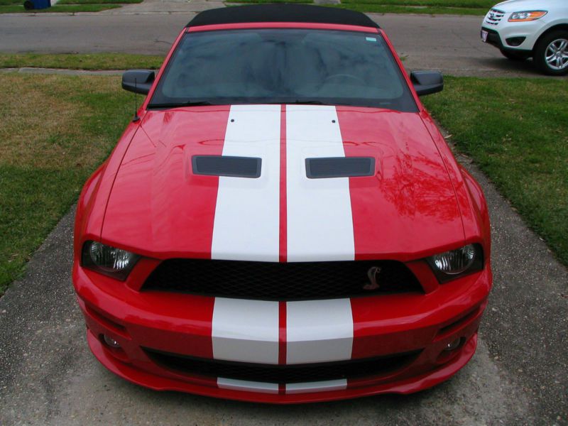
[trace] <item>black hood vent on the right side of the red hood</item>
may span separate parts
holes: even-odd
[[[306,158],[306,175],[310,179],[354,178],[374,174],[373,157]]]

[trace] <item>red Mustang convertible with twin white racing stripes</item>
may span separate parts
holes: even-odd
[[[268,403],[411,393],[476,349],[479,185],[385,33],[317,6],[205,11],[87,181],[73,283],[94,356],[157,390]]]

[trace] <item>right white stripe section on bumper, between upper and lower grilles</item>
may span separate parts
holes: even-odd
[[[305,300],[286,304],[286,364],[351,359],[351,300]]]

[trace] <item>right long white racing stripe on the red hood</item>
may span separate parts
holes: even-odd
[[[308,179],[305,159],[344,157],[335,107],[286,107],[288,261],[352,261],[349,178]]]

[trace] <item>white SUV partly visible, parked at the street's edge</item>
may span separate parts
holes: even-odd
[[[568,73],[568,0],[508,0],[481,25],[481,40],[511,60],[532,57],[550,75]]]

